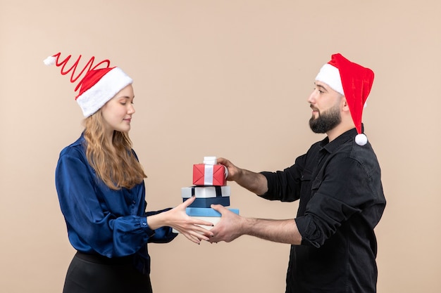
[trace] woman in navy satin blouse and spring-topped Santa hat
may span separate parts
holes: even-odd
[[[58,57],[52,60],[57,66]],[[194,198],[146,212],[146,175],[128,136],[135,113],[132,79],[119,67],[92,69],[80,86],[76,100],[85,129],[61,151],[56,166],[58,199],[77,250],[63,292],[151,292],[147,242],[170,242],[175,228],[199,244],[212,234],[198,225],[212,224],[185,214]]]

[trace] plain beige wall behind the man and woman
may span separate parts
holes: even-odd
[[[441,292],[441,2],[0,0],[0,291],[61,292],[74,250],[54,187],[82,131],[74,85],[46,56],[110,59],[134,79],[130,133],[149,209],[180,203],[192,164],[283,169],[323,136],[306,98],[332,53],[375,71],[364,112],[383,170],[378,292]],[[244,216],[289,219],[230,183]],[[289,245],[244,236],[150,245],[155,292],[284,292]]]

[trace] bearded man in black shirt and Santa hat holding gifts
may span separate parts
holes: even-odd
[[[340,54],[316,77],[308,98],[315,133],[327,134],[283,171],[254,173],[228,159],[228,180],[267,200],[299,200],[295,219],[251,219],[220,205],[211,242],[252,235],[291,244],[286,292],[376,292],[374,228],[385,209],[380,166],[361,114],[372,70]]]

